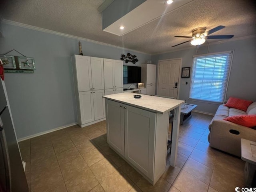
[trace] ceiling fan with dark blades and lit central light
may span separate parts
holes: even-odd
[[[234,37],[234,35],[211,35],[211,36],[208,36],[218,30],[221,30],[225,28],[225,26],[217,26],[211,30],[208,30],[206,32],[206,27],[199,27],[199,28],[196,28],[194,30],[192,30],[192,36],[174,36],[174,37],[182,37],[182,38],[192,38],[192,40],[189,40],[189,41],[185,41],[183,43],[180,43],[180,44],[177,44],[177,45],[174,45],[172,47],[175,47],[175,46],[178,46],[178,45],[181,45],[181,44],[184,44],[186,42],[190,42],[190,44],[192,45],[201,45],[205,42],[206,39],[230,39],[232,37]]]

